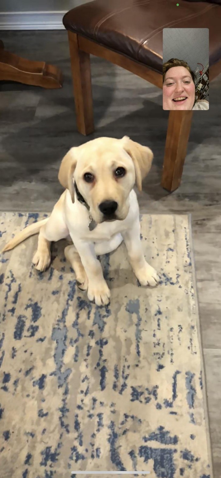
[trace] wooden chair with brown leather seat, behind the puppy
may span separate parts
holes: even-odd
[[[180,0],[94,0],[66,13],[77,130],[94,131],[90,54],[163,87],[163,28],[210,29],[210,81],[221,73],[221,6]],[[207,114],[207,113],[199,113]],[[170,111],[161,185],[180,184],[192,111]]]

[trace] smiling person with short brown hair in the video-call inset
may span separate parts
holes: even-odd
[[[207,101],[197,101],[195,74],[184,60],[171,58],[163,64],[163,109],[209,109]]]

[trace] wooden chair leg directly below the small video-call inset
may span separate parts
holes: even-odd
[[[170,111],[161,186],[169,192],[180,185],[193,111]]]

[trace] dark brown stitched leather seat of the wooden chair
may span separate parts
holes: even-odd
[[[210,66],[221,59],[221,6],[179,0],[94,0],[66,13],[66,30],[163,73],[163,28],[209,28]]]

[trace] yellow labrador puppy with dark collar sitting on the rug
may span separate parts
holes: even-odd
[[[108,304],[110,290],[98,255],[115,250],[124,240],[133,271],[141,285],[155,286],[159,277],[144,258],[140,240],[139,206],[133,190],[151,168],[152,151],[124,136],[98,138],[71,148],[63,158],[58,179],[65,188],[51,216],[28,226],[4,247],[11,250],[39,232],[33,263],[44,271],[51,261],[51,242],[71,238],[65,248],[78,285],[88,299]]]

